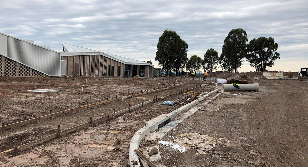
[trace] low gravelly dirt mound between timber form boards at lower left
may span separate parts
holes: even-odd
[[[56,130],[50,127],[36,127],[27,131],[1,137],[0,140],[3,142],[0,144],[0,152],[13,148],[15,138],[18,138],[19,145],[22,145],[54,133],[56,133]]]

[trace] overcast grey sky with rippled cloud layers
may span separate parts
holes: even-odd
[[[154,61],[158,38],[176,31],[188,57],[209,48],[221,54],[225,37],[243,28],[248,41],[272,36],[280,60],[270,70],[308,67],[308,1],[65,1],[1,0],[0,32],[62,51],[62,42],[137,60]],[[220,70],[220,69],[217,69]],[[253,71],[244,63],[242,71]]]

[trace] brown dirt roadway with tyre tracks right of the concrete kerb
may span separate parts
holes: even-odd
[[[308,166],[307,81],[259,80],[259,92],[221,94],[162,139],[209,135],[217,141],[200,154],[158,145],[168,167]],[[241,95],[239,95],[241,93]],[[204,144],[205,141],[199,141]],[[187,142],[189,143],[189,142]]]

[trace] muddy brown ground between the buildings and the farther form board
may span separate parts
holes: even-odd
[[[186,80],[183,79],[183,83]],[[134,79],[134,78],[88,78],[87,91],[85,78],[26,78],[0,77],[0,116],[3,125],[35,118],[52,112],[63,111],[89,103],[95,103],[115,95],[123,96],[129,93],[140,93],[141,90],[154,90],[165,85],[157,83],[178,84],[175,79]],[[32,89],[59,89],[58,93],[29,93]]]

